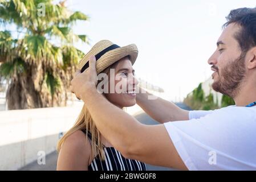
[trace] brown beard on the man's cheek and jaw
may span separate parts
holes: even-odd
[[[239,90],[243,77],[245,76],[245,53],[238,59],[227,64],[218,74],[218,80],[212,84],[213,90],[234,98]]]

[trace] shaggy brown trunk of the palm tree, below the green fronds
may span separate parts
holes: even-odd
[[[38,65],[30,65],[26,72],[14,74],[11,77],[10,85],[6,93],[8,110],[13,109],[32,109],[39,107],[67,106],[68,89],[72,77],[72,71],[75,68],[69,68],[67,71],[58,69],[55,72],[59,74],[63,85],[61,89],[51,96],[44,75],[46,70],[42,62]]]

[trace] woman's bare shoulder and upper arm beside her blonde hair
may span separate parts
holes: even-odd
[[[91,144],[83,131],[75,131],[63,142],[59,152],[57,170],[87,170]]]

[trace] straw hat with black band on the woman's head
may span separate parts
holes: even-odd
[[[128,46],[120,47],[113,44],[109,40],[100,40],[97,42],[91,50],[79,61],[78,66],[80,72],[84,72],[89,67],[89,57],[94,55],[96,57],[96,71],[102,72],[105,68],[109,67],[116,61],[122,59],[125,56],[130,56],[132,64],[138,56],[138,49],[135,44],[129,44]]]

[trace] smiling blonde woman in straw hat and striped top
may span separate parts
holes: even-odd
[[[123,109],[136,104],[135,88],[138,84],[132,65],[137,58],[137,47],[131,44],[119,47],[108,40],[101,40],[79,61],[81,72],[87,71],[88,59],[96,57],[96,71],[99,80],[97,88],[109,102]],[[114,80],[111,71],[114,73]],[[115,78],[119,79],[115,79]],[[112,79],[112,80],[111,80]],[[113,81],[114,84],[111,85]],[[57,170],[145,170],[145,163],[125,159],[112,147],[97,130],[88,113],[86,104],[79,114],[75,125],[59,140]]]

